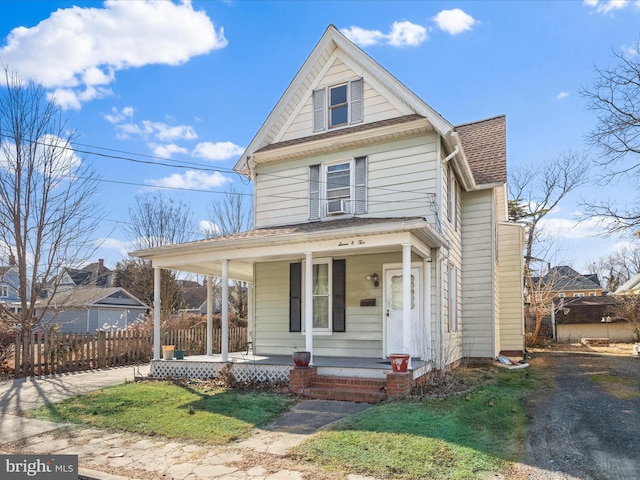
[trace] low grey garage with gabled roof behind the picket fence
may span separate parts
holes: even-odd
[[[142,319],[148,309],[120,287],[78,287],[53,295],[41,324],[65,333],[118,330]]]

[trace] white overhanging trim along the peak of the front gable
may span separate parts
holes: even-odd
[[[396,102],[405,107],[408,114],[417,114],[424,117],[433,126],[434,130],[449,141],[453,126],[444,117],[427,105],[363,50],[348,40],[334,25],[329,25],[278,100],[278,103],[267,116],[260,130],[258,130],[245,152],[240,156],[234,167],[235,171],[251,178],[252,174],[249,168],[251,156],[255,152],[275,143],[274,129],[280,128],[286,118],[290,116],[291,112],[288,110],[291,108],[290,104],[300,104],[311,95],[313,88],[315,88],[313,81],[318,74],[316,70],[318,62],[323,59],[326,60],[338,49],[344,51],[349,58],[356,62],[360,69],[365,72],[367,78],[375,79],[377,83],[382,85],[390,97],[393,97]]]

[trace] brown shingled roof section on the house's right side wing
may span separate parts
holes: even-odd
[[[507,181],[506,117],[500,115],[486,120],[457,125],[464,153],[476,183],[503,184]]]

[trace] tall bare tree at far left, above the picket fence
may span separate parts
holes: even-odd
[[[18,271],[12,315],[25,332],[46,313],[58,273],[93,250],[97,177],[73,150],[75,133],[55,99],[5,69],[0,90],[0,242]],[[38,305],[36,306],[36,301]],[[37,307],[37,308],[36,308]],[[16,309],[17,310],[17,309]]]

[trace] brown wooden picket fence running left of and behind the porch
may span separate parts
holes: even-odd
[[[163,345],[175,345],[187,355],[206,353],[206,328],[167,330]],[[213,353],[220,353],[222,330],[213,330]],[[229,351],[246,349],[247,329],[229,329]],[[145,363],[153,358],[153,334],[134,330],[93,333],[17,335],[15,375],[50,375]]]

